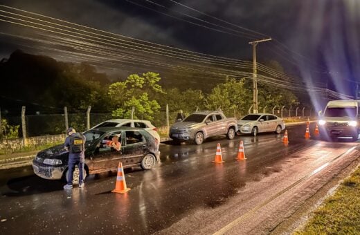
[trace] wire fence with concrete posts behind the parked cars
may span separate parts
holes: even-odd
[[[189,109],[187,109],[189,110]],[[194,109],[196,111],[197,109]],[[252,111],[252,110],[249,110]],[[267,109],[259,110],[260,112],[267,111],[267,113],[273,113],[280,118],[301,118],[301,117],[314,117],[317,115],[312,109]],[[179,109],[161,109],[161,111],[154,113],[153,119],[150,120],[152,124],[158,128],[162,126],[168,126],[176,122],[177,113]],[[192,112],[191,112],[192,113]],[[235,117],[237,119],[248,114],[240,113],[239,111],[224,111],[224,114],[228,118]],[[186,116],[190,113],[184,113]],[[66,123],[67,116],[67,123]],[[134,111],[134,117],[142,119],[141,115],[137,115]],[[24,115],[24,121],[26,126],[26,136],[23,132],[23,122],[21,116],[6,116],[2,115],[3,119],[6,119],[11,126],[19,126],[18,137],[36,137],[41,135],[58,135],[66,132],[67,126],[74,127],[77,131],[86,131],[89,127],[95,126],[100,122],[111,120],[116,117],[111,113],[64,113],[64,114],[50,114],[50,115]],[[89,126],[88,126],[89,123]]]

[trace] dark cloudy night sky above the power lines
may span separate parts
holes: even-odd
[[[275,59],[285,73],[301,77],[309,86],[327,83],[349,95],[353,95],[352,81],[360,81],[357,0],[0,2],[156,44],[233,59],[251,60],[249,41],[271,37],[272,41],[258,45],[260,63]],[[0,30],[0,57],[8,57],[17,48],[46,54],[41,43],[16,37],[31,33],[29,29],[1,22]],[[66,60],[61,54],[47,53]]]

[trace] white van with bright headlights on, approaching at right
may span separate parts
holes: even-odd
[[[320,133],[330,137],[359,137],[359,101],[332,100],[327,103],[323,115],[319,117]]]

